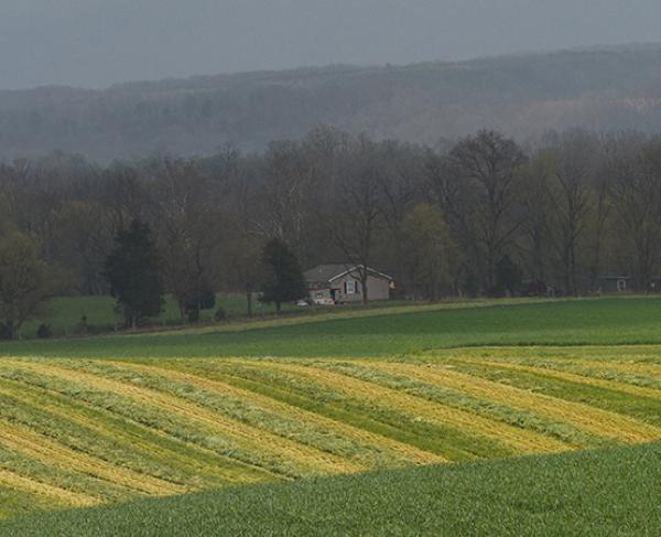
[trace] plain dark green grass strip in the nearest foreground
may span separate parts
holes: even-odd
[[[229,487],[0,524],[12,537],[661,534],[661,445]]]

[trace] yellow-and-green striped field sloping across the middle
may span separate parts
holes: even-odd
[[[0,358],[0,518],[661,440],[658,347]]]

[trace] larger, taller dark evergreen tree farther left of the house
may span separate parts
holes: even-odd
[[[136,329],[145,318],[161,313],[163,282],[160,265],[147,224],[136,219],[128,229],[118,233],[116,247],[106,259],[105,276],[126,326]]]

